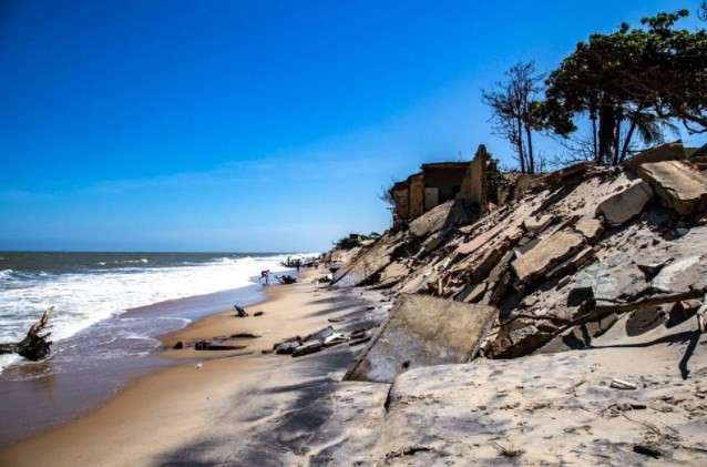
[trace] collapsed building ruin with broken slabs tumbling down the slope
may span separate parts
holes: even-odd
[[[478,336],[490,358],[587,346],[624,313],[629,334],[679,323],[707,292],[704,152],[676,142],[621,166],[580,163],[519,181],[502,206],[488,201],[483,146],[470,163],[426,164],[392,187],[396,226],[334,285],[493,307]]]

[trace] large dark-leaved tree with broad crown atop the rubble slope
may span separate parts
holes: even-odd
[[[707,37],[674,29],[687,10],[626,23],[611,34],[592,34],[550,73],[542,126],[571,139],[584,115],[591,138],[582,151],[602,164],[617,164],[636,140],[659,143],[680,121],[688,132],[707,131]],[[587,144],[588,143],[588,144]]]

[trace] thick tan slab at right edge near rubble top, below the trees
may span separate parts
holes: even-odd
[[[678,161],[647,163],[638,175],[653,186],[664,206],[688,215],[707,209],[707,175]]]

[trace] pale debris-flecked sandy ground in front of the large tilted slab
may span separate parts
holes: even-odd
[[[654,338],[635,337],[625,342],[643,343]],[[652,465],[649,458],[632,451],[634,444],[648,443],[655,439],[653,436],[659,436],[646,427],[649,423],[663,434],[679,436],[679,445],[674,443],[666,449],[667,456],[673,457],[664,458],[660,465],[705,465],[704,415],[701,408],[694,408],[704,406],[705,399],[700,396],[707,394],[705,384],[699,383],[705,365],[696,352],[690,365],[695,373],[700,372],[696,373],[699,376],[688,380],[676,377],[676,364],[684,349],[685,346],[675,343],[649,348],[627,345],[416,368],[398,376],[386,394],[382,414],[378,413],[378,419],[366,424],[372,427],[372,433],[361,435],[363,428],[359,426],[344,434],[336,432],[334,441],[320,441],[318,449],[308,451],[317,453],[315,460],[319,461],[310,464]],[[639,383],[639,388],[633,394],[609,388],[616,377]],[[377,386],[388,389],[387,385]],[[370,397],[363,389],[356,388],[342,399],[356,399],[358,394]],[[670,400],[669,406],[663,398]],[[683,398],[687,400],[682,402]],[[623,416],[624,410],[638,409],[635,403],[644,404],[641,408],[649,407],[625,412]],[[371,410],[365,400],[350,405],[359,408],[361,415]],[[625,405],[628,407],[622,409]],[[669,413],[662,412],[664,407]],[[347,419],[356,413],[356,409],[336,412],[332,418]],[[500,448],[494,447],[494,440],[520,454],[516,457],[502,455]],[[426,446],[431,450],[390,459],[389,453],[410,446]],[[680,446],[697,446],[699,450]]]

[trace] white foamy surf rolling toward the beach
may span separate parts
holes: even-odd
[[[61,342],[130,308],[252,285],[260,271],[286,271],[280,265],[286,257],[215,257],[167,267],[148,267],[148,260],[140,258],[125,261],[125,267],[63,274],[3,270],[0,342],[23,338],[49,306],[54,306],[50,321],[52,341]],[[0,367],[16,361],[16,356],[4,356]]]

